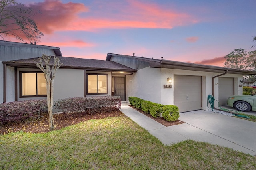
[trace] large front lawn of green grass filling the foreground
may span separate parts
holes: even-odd
[[[0,135],[0,169],[256,169],[256,157],[205,142],[162,144],[125,116],[45,134]]]

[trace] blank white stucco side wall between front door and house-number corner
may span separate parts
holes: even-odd
[[[161,103],[160,69],[146,67],[126,77],[126,101],[128,101],[128,97],[133,96]]]

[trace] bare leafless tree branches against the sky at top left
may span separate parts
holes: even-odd
[[[39,40],[44,34],[31,18],[37,13],[16,0],[0,0],[0,37],[11,36],[21,42]]]

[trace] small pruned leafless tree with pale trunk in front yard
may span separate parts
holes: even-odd
[[[42,61],[44,60],[44,63]],[[52,68],[50,68],[49,63],[51,60],[51,56],[48,55],[42,55],[42,58],[39,58],[39,63],[36,63],[36,66],[40,68],[44,72],[44,78],[46,81],[46,91],[47,91],[47,107],[48,107],[48,113],[49,113],[49,128],[50,130],[55,129],[54,124],[54,118],[52,115],[52,109],[53,109],[53,85],[54,85],[54,78],[57,70],[60,68],[62,63],[60,63],[59,57],[54,56],[54,63],[52,65]]]

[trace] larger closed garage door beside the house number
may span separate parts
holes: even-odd
[[[174,105],[180,112],[202,109],[202,77],[174,75]]]

